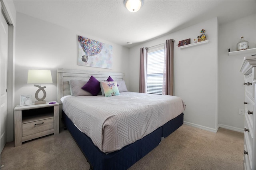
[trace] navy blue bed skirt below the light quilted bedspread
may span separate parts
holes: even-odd
[[[101,152],[86,134],[76,128],[63,111],[62,120],[89,162],[91,169],[126,170],[158,146],[162,136],[167,137],[179,128],[183,124],[183,113],[142,139],[109,154]]]

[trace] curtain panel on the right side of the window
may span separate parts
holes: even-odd
[[[173,49],[174,40],[166,40],[164,46],[164,75],[162,95],[173,95]]]

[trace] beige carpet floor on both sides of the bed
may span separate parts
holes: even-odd
[[[217,133],[182,125],[129,170],[242,170],[244,134]],[[86,158],[68,130],[24,142],[8,142],[1,170],[88,170]]]

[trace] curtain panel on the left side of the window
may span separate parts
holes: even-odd
[[[147,52],[145,47],[140,48],[140,93],[147,93]]]

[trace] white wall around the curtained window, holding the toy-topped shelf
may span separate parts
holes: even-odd
[[[180,40],[205,34],[209,43],[178,49]],[[174,39],[174,95],[186,103],[184,121],[192,126],[216,131],[218,125],[218,20],[213,18],[142,43],[130,49],[130,90],[139,90],[140,47],[150,47]]]

